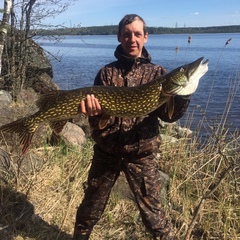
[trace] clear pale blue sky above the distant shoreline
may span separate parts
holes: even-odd
[[[154,27],[240,25],[240,0],[77,0],[48,21],[82,27],[117,25],[127,13],[139,14]]]

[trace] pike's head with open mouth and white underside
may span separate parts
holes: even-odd
[[[198,87],[200,78],[208,71],[208,60],[203,57],[185,64],[169,73],[162,84],[165,95],[190,95]]]

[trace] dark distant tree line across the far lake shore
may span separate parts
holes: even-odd
[[[117,25],[38,29],[34,35],[116,35]],[[239,33],[240,25],[219,27],[148,27],[149,34],[183,34],[183,33]]]

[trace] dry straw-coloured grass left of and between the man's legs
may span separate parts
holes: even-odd
[[[92,142],[87,140],[80,154],[62,146],[32,150],[21,164],[11,157],[1,178],[0,239],[71,239],[91,156]],[[145,239],[120,179],[92,239]]]

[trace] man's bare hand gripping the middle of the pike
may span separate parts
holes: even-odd
[[[102,108],[97,98],[91,94],[80,102],[80,111],[86,116],[96,116],[102,113]]]

